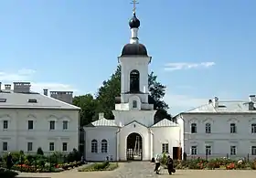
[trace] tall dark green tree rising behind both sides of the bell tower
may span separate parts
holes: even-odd
[[[157,81],[154,72],[148,75],[148,87],[150,91],[150,102],[154,104],[155,122],[163,119],[171,120],[171,115],[167,113],[168,105],[163,100],[166,87]],[[113,120],[112,110],[115,106],[115,97],[121,93],[121,66],[118,66],[111,78],[103,81],[101,88],[96,94],[98,108],[96,112],[104,112],[105,118]]]

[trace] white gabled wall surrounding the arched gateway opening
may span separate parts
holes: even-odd
[[[127,148],[127,137],[131,133],[138,133],[142,136],[143,139],[143,160],[151,159],[151,148],[150,148],[150,131],[139,124],[138,122],[133,122],[126,125],[119,132],[119,160],[126,161],[126,148]]]

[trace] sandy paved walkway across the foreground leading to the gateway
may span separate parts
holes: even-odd
[[[177,170],[174,175],[169,175],[167,170],[162,169],[160,175],[154,173],[154,164],[150,162],[122,162],[120,167],[112,172],[77,172],[75,170],[62,173],[20,173],[18,177],[26,178],[146,178],[159,177],[167,178],[177,176],[178,178],[216,178],[216,177],[232,177],[232,178],[254,178],[256,171],[252,170]]]

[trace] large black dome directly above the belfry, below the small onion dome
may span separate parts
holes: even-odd
[[[125,57],[125,56],[147,57],[147,51],[143,44],[126,44],[123,47],[121,57]]]

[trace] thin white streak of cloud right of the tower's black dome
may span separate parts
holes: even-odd
[[[165,70],[180,70],[180,69],[190,69],[190,68],[209,68],[215,65],[215,62],[201,62],[201,63],[187,63],[187,62],[177,62],[168,63],[165,65]]]

